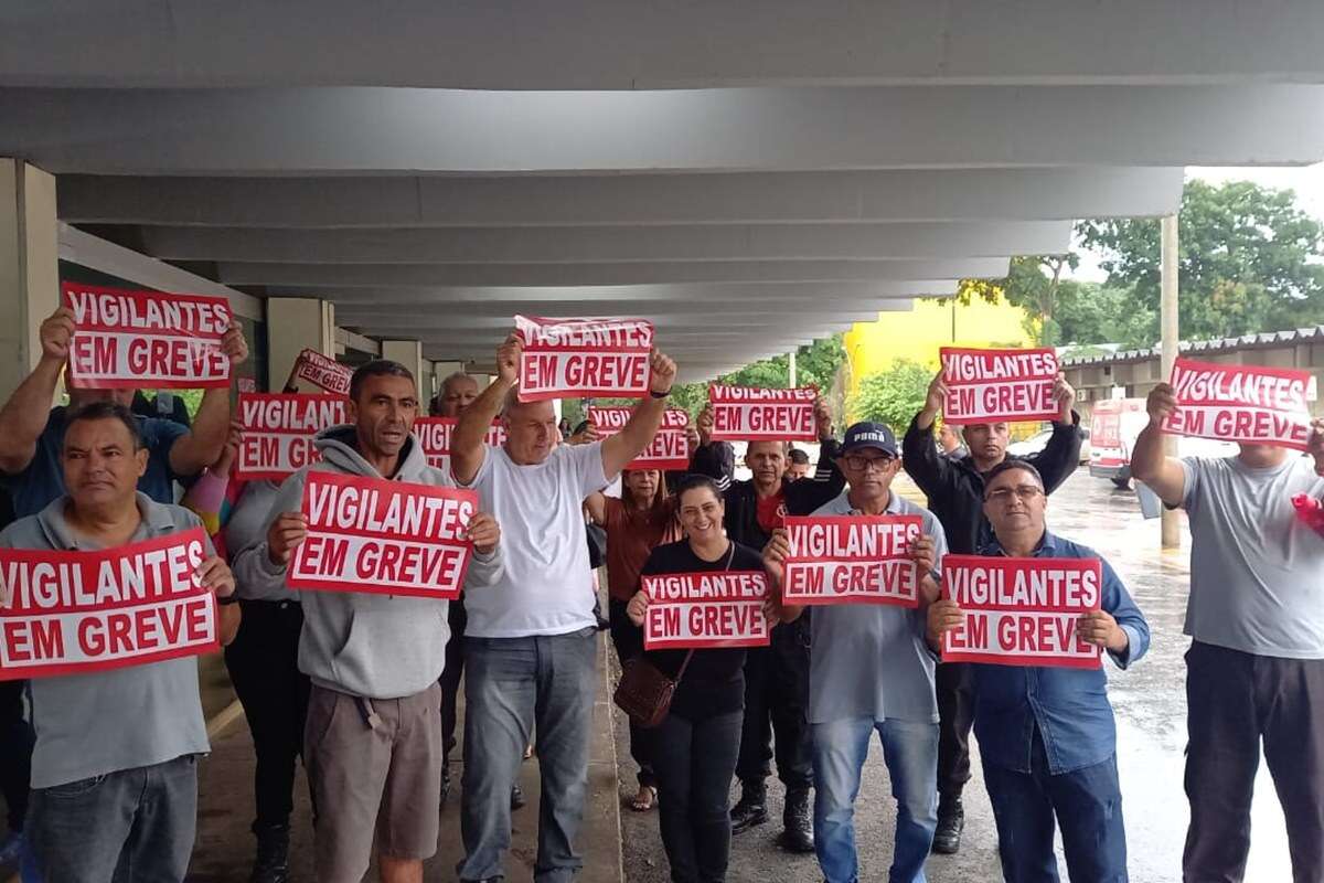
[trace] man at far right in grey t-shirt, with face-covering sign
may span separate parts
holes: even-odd
[[[1292,506],[1324,496],[1324,421],[1309,418],[1304,371],[1178,363],[1173,379],[1149,393],[1131,471],[1190,516],[1182,867],[1192,880],[1245,874],[1263,739],[1292,874],[1324,879],[1324,537]],[[1165,457],[1164,432],[1241,451]]]

